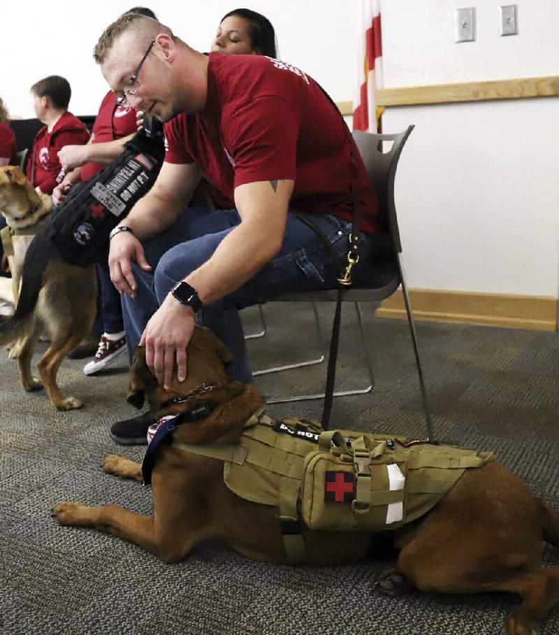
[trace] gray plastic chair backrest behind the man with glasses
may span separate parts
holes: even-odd
[[[398,159],[407,138],[412,133],[414,126],[399,134],[375,134],[354,130],[354,139],[363,158],[367,176],[370,179],[379,199],[379,213],[388,218],[390,234],[395,252],[402,251],[400,242],[400,229],[394,201],[394,181]],[[383,152],[383,141],[392,142],[391,148]]]

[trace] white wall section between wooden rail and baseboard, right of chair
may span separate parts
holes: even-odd
[[[394,108],[410,287],[557,297],[559,99]]]

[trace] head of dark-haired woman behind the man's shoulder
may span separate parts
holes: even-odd
[[[212,51],[277,57],[274,27],[261,13],[233,9],[219,23]]]

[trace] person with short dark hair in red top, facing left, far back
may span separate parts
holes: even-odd
[[[83,145],[89,140],[84,124],[68,112],[72,91],[68,80],[51,75],[31,86],[35,114],[45,124],[36,134],[27,178],[43,194],[52,194],[61,171],[59,150],[68,144]]]

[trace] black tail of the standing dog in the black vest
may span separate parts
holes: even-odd
[[[22,268],[22,287],[15,313],[0,324],[0,346],[15,342],[29,331],[39,293],[45,284],[44,274],[52,257],[52,244],[45,227],[35,236],[27,252]]]

